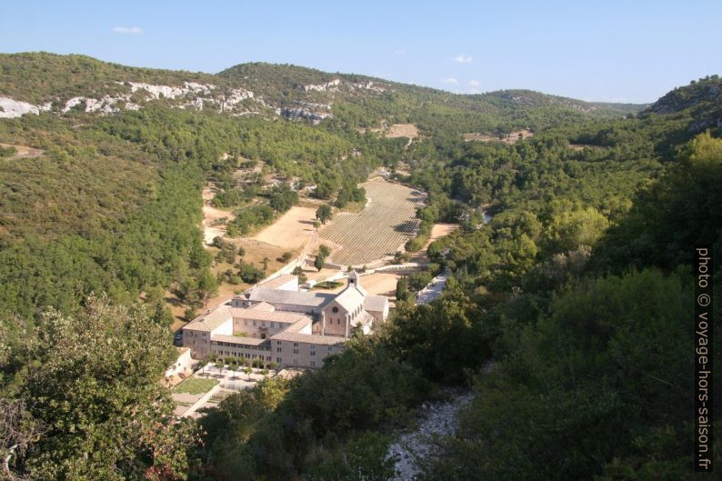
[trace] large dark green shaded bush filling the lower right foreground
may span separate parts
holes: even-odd
[[[506,357],[477,379],[461,436],[428,479],[692,476],[691,302],[687,276],[656,270],[564,290],[536,327],[508,330]]]

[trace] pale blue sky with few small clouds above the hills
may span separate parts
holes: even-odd
[[[460,94],[650,103],[722,74],[722,2],[0,0],[0,52],[216,73],[245,62]]]

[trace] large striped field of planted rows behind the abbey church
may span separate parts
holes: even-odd
[[[385,256],[393,256],[413,237],[418,227],[416,206],[426,195],[406,185],[375,179],[363,185],[370,202],[357,214],[337,214],[331,225],[321,230],[321,241],[341,248],[330,260],[342,266],[362,266]]]

